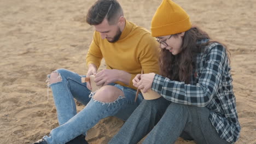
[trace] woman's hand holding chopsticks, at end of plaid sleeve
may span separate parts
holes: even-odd
[[[148,89],[151,88],[154,77],[155,77],[155,73],[142,74],[142,75],[138,74],[132,80],[133,86],[137,87],[138,89],[141,89],[143,93],[146,93]]]

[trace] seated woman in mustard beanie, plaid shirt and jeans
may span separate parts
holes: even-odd
[[[224,45],[192,27],[188,14],[163,0],[152,19],[161,47],[161,75],[137,75],[133,86],[161,97],[143,100],[109,143],[235,143],[240,135]]]

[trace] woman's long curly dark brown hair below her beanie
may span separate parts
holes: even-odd
[[[173,37],[177,37],[177,35],[178,34],[175,34]],[[217,41],[209,40],[204,44],[196,44],[196,41],[200,39],[210,39],[210,37],[200,28],[193,26],[185,32],[181,52],[178,53],[178,55],[172,55],[168,50],[161,49],[159,58],[161,75],[170,80],[182,81],[189,84],[193,69],[196,68],[193,58],[195,58],[196,54],[200,53],[206,45],[218,43]]]

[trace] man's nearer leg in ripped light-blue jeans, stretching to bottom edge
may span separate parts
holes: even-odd
[[[114,116],[126,104],[133,104],[134,107],[137,107],[138,104],[134,103],[136,91],[119,87],[104,86],[99,89],[82,111],[60,127],[53,129],[50,135],[44,136],[43,139],[49,144],[66,143],[88,131],[100,119]],[[127,91],[128,89],[129,91]],[[125,113],[125,111],[123,112]]]

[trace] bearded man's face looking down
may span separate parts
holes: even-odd
[[[122,33],[118,23],[109,25],[107,19],[104,19],[99,25],[95,25],[94,27],[97,32],[101,33],[101,38],[107,39],[109,43],[118,41]]]

